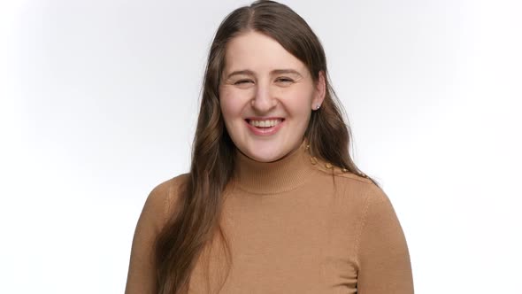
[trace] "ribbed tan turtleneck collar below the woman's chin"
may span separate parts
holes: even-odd
[[[252,194],[275,194],[294,190],[313,170],[306,140],[287,156],[273,162],[259,162],[236,150],[234,182]]]

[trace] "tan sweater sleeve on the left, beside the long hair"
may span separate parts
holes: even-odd
[[[134,230],[125,294],[156,293],[154,241],[164,224],[168,187],[165,183],[152,190],[143,205]]]

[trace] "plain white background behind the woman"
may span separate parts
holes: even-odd
[[[203,67],[247,1],[0,2],[0,292],[121,293],[188,171]],[[519,1],[284,1],[319,35],[417,293],[520,293]]]

